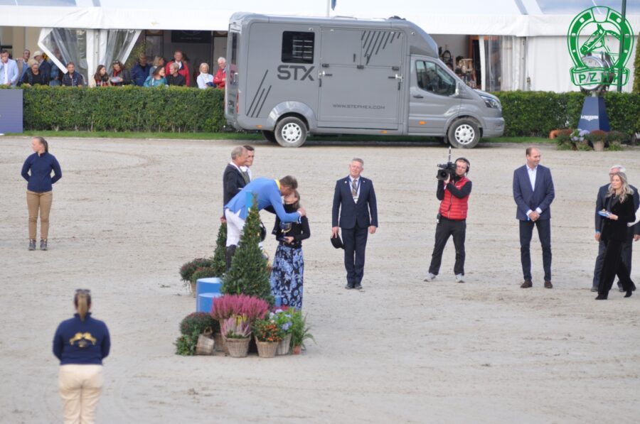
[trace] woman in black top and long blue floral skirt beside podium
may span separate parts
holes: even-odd
[[[284,210],[295,212],[300,207],[300,195],[294,190],[284,196]],[[271,271],[271,292],[286,305],[297,310],[302,308],[302,277],[304,260],[302,259],[302,240],[309,239],[309,220],[302,217],[297,222],[284,223],[276,217],[272,231],[278,249],[273,258]]]

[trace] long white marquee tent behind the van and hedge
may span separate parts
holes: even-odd
[[[95,69],[97,62],[126,58],[140,30],[225,31],[229,17],[235,11],[326,16],[328,3],[327,0],[190,0],[182,3],[169,0],[0,0],[0,26],[88,30],[83,43],[87,50],[87,68]],[[437,42],[439,39],[450,40],[455,35],[478,36],[479,40],[484,40],[479,48],[482,87],[485,89],[565,92],[577,89],[570,80],[573,64],[567,50],[567,31],[572,18],[594,4],[616,10],[622,7],[622,1],[613,0],[338,0],[336,9],[329,14],[356,18],[400,16],[417,23]],[[626,5],[627,19],[636,36],[634,51],[626,65],[631,71],[631,79],[623,88],[630,91],[640,31],[640,0],[628,0]],[[46,29],[41,35],[41,43],[48,36],[53,37]],[[118,43],[114,44],[116,39]],[[117,51],[113,50],[114,45]]]

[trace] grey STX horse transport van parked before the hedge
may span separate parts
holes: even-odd
[[[472,148],[504,131],[498,98],[467,87],[402,19],[235,13],[227,54],[225,118],[280,146],[307,134],[393,134]]]

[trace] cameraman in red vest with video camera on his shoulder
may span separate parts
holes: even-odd
[[[436,197],[440,202],[437,215],[436,241],[431,255],[431,265],[425,281],[433,281],[440,271],[442,251],[453,236],[456,247],[456,263],[454,273],[456,283],[464,283],[464,236],[466,233],[466,210],[469,208],[469,194],[471,193],[471,180],[466,178],[469,172],[469,161],[465,158],[457,158],[455,161],[455,173],[449,174],[446,180],[438,180]]]

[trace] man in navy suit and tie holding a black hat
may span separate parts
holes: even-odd
[[[358,290],[362,288],[367,236],[374,234],[378,228],[378,206],[373,182],[360,176],[363,169],[362,159],[354,158],[351,161],[349,175],[336,182],[331,213],[331,237],[338,235],[338,222],[342,229],[344,267],[347,271],[345,288]]]

